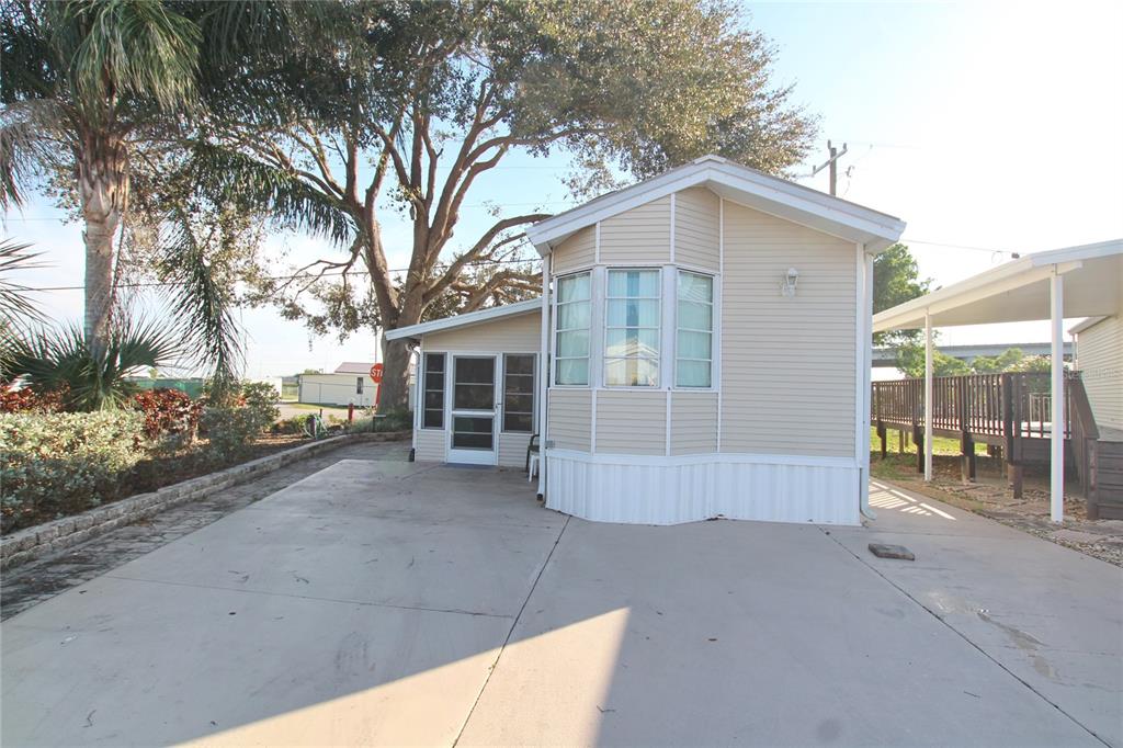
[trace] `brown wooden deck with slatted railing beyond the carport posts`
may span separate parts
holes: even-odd
[[[1026,464],[1050,459],[1052,398],[1048,373],[938,376],[932,382],[932,434],[959,439],[965,481],[975,480],[975,445],[1006,464],[1014,495],[1022,493]],[[1123,435],[1096,427],[1079,374],[1065,377],[1065,462],[1075,468],[1088,500],[1088,516],[1123,518]],[[917,445],[916,469],[924,472],[924,380],[874,382],[870,422],[880,437],[911,435]]]

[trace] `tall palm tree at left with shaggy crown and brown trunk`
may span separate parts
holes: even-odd
[[[0,207],[21,206],[31,186],[62,182],[73,190],[84,222],[83,332],[93,354],[104,355],[112,337],[130,159],[146,138],[190,125],[201,110],[206,71],[283,26],[283,9],[248,0],[0,3]],[[195,256],[183,249],[185,257]],[[190,283],[174,298],[175,311],[197,317],[186,327],[200,349],[230,350],[237,337],[232,317],[214,309],[213,294],[192,298],[192,290],[209,288],[199,282],[206,263],[186,264],[181,266]],[[227,356],[209,363],[221,368],[232,362]]]

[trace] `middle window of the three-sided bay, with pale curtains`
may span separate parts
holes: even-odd
[[[609,271],[604,383],[659,386],[659,271]]]

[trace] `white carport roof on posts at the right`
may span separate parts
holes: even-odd
[[[1049,279],[1065,276],[1066,319],[1119,313],[1123,239],[1039,252],[874,316],[874,331],[1049,319]]]

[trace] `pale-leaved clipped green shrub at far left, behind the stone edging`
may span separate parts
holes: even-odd
[[[113,498],[145,457],[144,414],[0,414],[0,513],[7,532]]]

